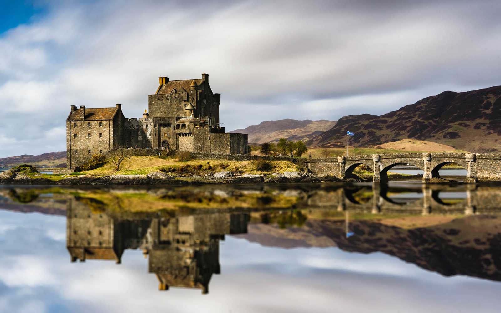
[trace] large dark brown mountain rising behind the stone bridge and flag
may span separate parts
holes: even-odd
[[[345,116],[306,144],[344,146],[346,130],[355,133],[349,139],[354,146],[378,146],[414,138],[465,151],[499,151],[501,86],[460,93],[444,91],[381,116]]]

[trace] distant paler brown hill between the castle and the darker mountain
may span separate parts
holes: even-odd
[[[292,120],[261,122],[245,129],[235,129],[230,133],[248,134],[249,143],[265,143],[278,141],[280,138],[289,140],[308,140],[310,137],[319,135],[336,125],[336,121],[328,120]]]

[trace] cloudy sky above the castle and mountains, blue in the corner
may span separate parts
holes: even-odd
[[[140,117],[210,75],[226,129],[501,85],[499,1],[0,0],[0,157],[66,150],[71,105]]]

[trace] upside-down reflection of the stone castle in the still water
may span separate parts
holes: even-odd
[[[207,293],[212,274],[220,273],[219,241],[225,234],[246,233],[248,221],[247,213],[127,220],[94,213],[84,203],[70,200],[66,242],[72,262],[120,263],[125,249],[142,249],[159,290],[188,287]]]

